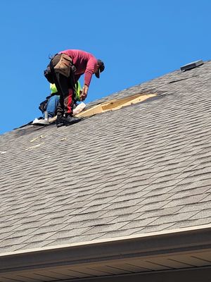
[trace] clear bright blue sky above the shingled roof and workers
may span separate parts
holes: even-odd
[[[105,62],[86,102],[211,59],[210,0],[1,0],[0,8],[0,134],[41,116],[49,54],[82,49]]]

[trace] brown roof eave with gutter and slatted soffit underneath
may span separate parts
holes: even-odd
[[[0,256],[0,280],[26,281],[39,276],[40,281],[44,281],[41,280],[44,277],[48,277],[48,281],[56,278],[69,281],[201,266],[211,266],[210,224],[5,253]]]

